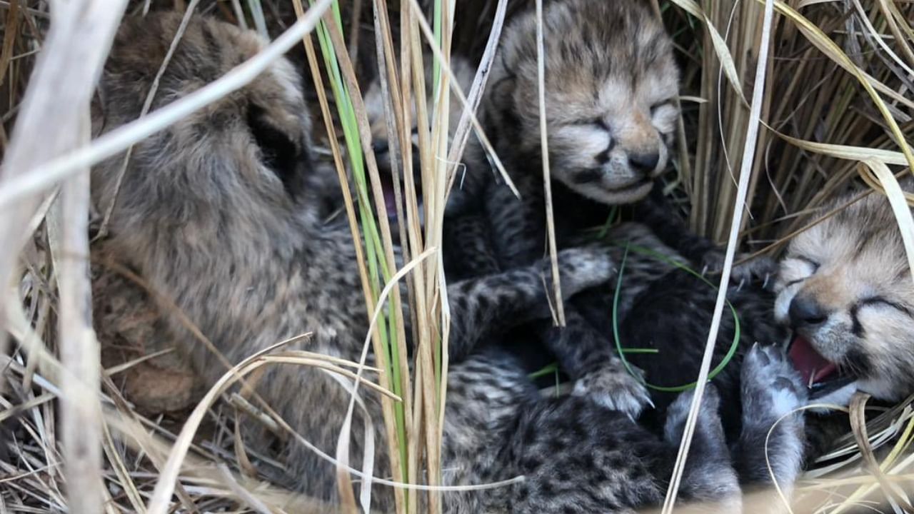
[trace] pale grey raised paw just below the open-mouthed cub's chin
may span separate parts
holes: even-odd
[[[806,388],[783,349],[756,343],[742,364],[744,423],[770,422],[806,403]],[[802,417],[801,412],[796,412]]]

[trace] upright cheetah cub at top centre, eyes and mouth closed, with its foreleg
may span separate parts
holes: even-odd
[[[553,210],[558,244],[566,247],[579,241],[580,229],[604,223],[609,205],[634,202],[651,191],[669,160],[679,73],[672,43],[645,3],[560,0],[544,6],[543,18]],[[475,248],[460,231],[465,239],[491,241],[494,259],[476,261],[500,270],[535,262],[545,248],[536,30],[532,11],[505,27],[481,113],[521,198],[496,184],[477,157],[481,150],[471,148],[466,156],[471,170],[464,188],[452,191],[445,220],[445,227],[457,232],[452,239],[459,241],[453,245],[458,249]],[[474,211],[483,213],[485,230],[465,220]],[[565,307],[566,328],[552,330],[547,320],[536,324],[535,332],[557,355],[594,356],[566,369],[579,380],[580,394],[638,414],[648,398],[643,386],[580,316],[580,305]]]

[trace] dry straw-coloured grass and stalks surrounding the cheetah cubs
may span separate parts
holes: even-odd
[[[417,341],[414,374],[410,376],[407,367],[403,320],[377,314],[377,329],[367,334],[366,348],[370,338],[376,355],[392,356],[382,359],[379,369],[367,368],[364,361],[281,352],[251,356],[226,375],[228,383],[238,379],[237,373],[256,374],[258,367],[282,359],[332,369],[355,380],[349,383],[361,384],[360,390],[384,392],[384,419],[377,422],[385,423],[387,438],[374,444],[396,448],[391,469],[351,469],[345,459],[349,434],[341,434],[335,456],[327,455],[338,463],[341,490],[347,491],[342,509],[347,511],[364,507],[369,499],[356,498],[353,491],[359,489],[353,482],[392,477],[395,483],[434,486],[440,477],[449,311],[435,249],[441,246],[443,205],[458,170],[452,163],[476,125],[464,113],[458,136],[449,141],[452,113],[445,107],[451,94],[476,106],[484,90],[480,77],[471,91],[451,91],[446,56],[469,55],[485,67],[494,57],[492,43],[503,20],[534,4],[459,3],[456,9],[456,3],[444,0],[423,5],[426,22],[418,10],[407,8],[419,7],[411,1],[387,5],[384,0],[353,0],[336,16],[324,16],[316,27],[317,43],[305,36],[302,47],[297,41],[313,24],[294,24],[310,6],[298,0],[162,0],[129,7],[141,12],[150,4],[189,6],[273,37],[292,27],[278,42],[285,48],[294,44],[300,53],[304,48],[300,62],[314,79],[313,105],[325,122],[326,153],[333,156],[340,177],[354,178],[352,191],[343,181],[345,215],[353,237],[365,242],[366,252],[360,255],[363,290],[369,312],[376,313],[387,292],[395,305],[402,301],[398,288],[384,286],[404,275],[393,267],[387,217],[377,217],[376,225],[358,214],[371,205],[384,205],[359,92],[369,77],[384,78],[393,99],[387,108],[388,133],[396,135],[404,150],[393,157],[397,161],[392,167],[411,169],[418,160],[422,177],[415,184],[406,174],[405,187],[397,192],[406,198],[399,226],[411,268],[404,280],[416,327],[410,335]],[[227,77],[230,83],[214,84],[196,100],[153,112],[132,128],[87,147],[80,127],[85,126],[91,84],[120,13],[111,2],[69,4],[56,5],[55,34],[48,31],[46,2],[0,0],[0,282],[15,286],[0,296],[6,300],[0,301],[0,309],[5,309],[0,319],[16,343],[11,354],[0,352],[12,356],[0,357],[5,369],[0,422],[11,429],[0,448],[6,454],[0,454],[0,512],[335,510],[251,477],[251,460],[268,467],[271,462],[264,455],[251,455],[236,437],[239,411],[295,437],[268,408],[214,388],[189,416],[146,418],[122,396],[117,381],[142,359],[107,372],[100,368],[94,337],[85,330],[88,320],[80,316],[90,301],[84,280],[88,266],[80,258],[88,252],[87,230],[73,222],[87,210],[86,166],[252,79],[257,68],[252,64],[239,70]],[[74,14],[79,5],[102,4],[100,10],[86,11],[90,16]],[[914,135],[914,3],[774,2],[769,29],[763,28],[761,1],[699,5],[664,0],[654,5],[674,34],[684,69],[680,158],[667,177],[668,192],[694,230],[728,241],[728,265],[738,243],[776,254],[811,220],[828,215],[817,209],[857,177],[887,191],[904,229],[909,258],[914,258],[914,221],[905,207],[910,198],[893,177],[914,169],[908,143]],[[760,43],[763,35],[771,40],[768,49]],[[424,83],[417,72],[428,65],[420,49],[426,40],[437,41],[443,58],[436,64],[441,69],[436,81],[443,87],[430,104],[426,91],[433,84]],[[37,60],[38,50],[46,54],[43,60]],[[265,52],[261,62],[279,53]],[[757,69],[764,74],[757,75]],[[29,80],[33,70],[36,74]],[[60,88],[60,83],[69,87]],[[404,107],[414,100],[418,155],[411,152],[412,114]],[[750,110],[750,103],[757,109]],[[14,122],[16,132],[10,137]],[[71,152],[74,148],[82,149]],[[59,195],[48,194],[58,188]],[[425,201],[424,229],[419,195]],[[361,381],[362,375],[367,381]],[[357,398],[354,392],[350,414]],[[891,498],[897,511],[909,505],[904,486],[914,477],[914,456],[908,451],[914,409],[903,402],[868,418],[863,416],[866,409],[876,412],[862,398],[852,405],[852,429],[803,477],[795,512],[844,512],[862,505],[874,491]],[[207,464],[213,462],[228,464]],[[68,490],[80,494],[68,495]],[[417,511],[418,494],[397,490],[399,512]],[[439,511],[439,496],[431,494],[430,500],[430,510]]]

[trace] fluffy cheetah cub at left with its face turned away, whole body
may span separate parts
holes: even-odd
[[[125,21],[101,78],[95,121],[103,130],[140,112],[157,68],[151,62],[164,57],[179,21],[175,14]],[[263,45],[253,32],[196,18],[162,78],[155,107],[196,91]],[[198,327],[232,363],[308,331],[314,337],[292,349],[350,360],[361,352],[368,313],[353,241],[348,230],[319,223],[314,191],[305,187],[314,172],[307,112],[299,79],[281,59],[228,98],[143,140],[123,177],[106,250],[183,313],[183,319],[168,320],[161,336],[183,344],[210,384],[224,369],[182,321]],[[112,199],[121,163],[117,156],[92,170],[96,202]],[[559,260],[567,294],[611,278],[605,251],[571,249]],[[447,512],[631,512],[663,498],[681,414],[671,415],[665,437],[658,437],[625,413],[586,398],[540,398],[514,359],[475,348],[499,327],[547,316],[548,269],[537,262],[448,288],[445,483],[526,480],[447,494]],[[298,434],[333,453],[349,402],[336,380],[317,369],[281,366],[268,369],[255,387]],[[369,392],[363,398],[380,430],[377,398]],[[719,437],[714,399],[712,391],[694,443],[705,458],[689,462],[682,493],[733,512],[739,487]],[[688,394],[677,402],[673,411],[685,412]],[[356,417],[355,425],[357,444],[367,423]],[[376,441],[382,435],[375,434]],[[266,441],[254,443],[262,448]],[[280,449],[287,483],[335,499],[334,466],[294,438]],[[353,466],[360,466],[363,451],[353,448]],[[377,445],[378,474],[387,469],[386,451]],[[372,498],[378,510],[392,509],[387,487],[377,486]]]

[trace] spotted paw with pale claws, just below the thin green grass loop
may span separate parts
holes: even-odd
[[[610,409],[637,418],[645,405],[654,406],[651,396],[644,387],[642,372],[632,368],[637,376],[632,376],[619,365],[606,365],[594,369],[575,382],[571,394],[589,398],[593,402]]]

